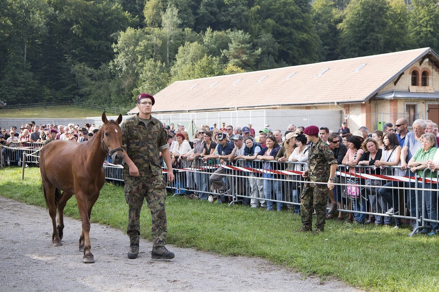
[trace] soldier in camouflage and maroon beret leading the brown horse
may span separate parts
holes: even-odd
[[[151,116],[154,97],[147,93],[137,96],[139,113],[121,126],[124,148],[125,200],[129,205],[127,234],[130,237],[128,258],[137,258],[140,237],[140,209],[143,200],[151,211],[153,259],[174,257],[164,246],[166,240],[166,190],[160,167],[159,152],[167,166],[167,179],[174,180],[163,124]]]

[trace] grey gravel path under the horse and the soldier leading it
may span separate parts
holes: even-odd
[[[128,259],[127,235],[92,224],[94,264],[82,263],[80,221],[65,217],[63,245],[51,245],[45,208],[0,196],[1,291],[359,291],[344,282],[321,281],[265,259],[220,256],[167,245],[171,260],[151,260],[151,243],[140,241]]]

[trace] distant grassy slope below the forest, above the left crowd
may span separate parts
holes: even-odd
[[[122,114],[126,114],[125,112]],[[79,107],[74,105],[50,105],[44,108],[31,107],[31,108],[13,108],[13,109],[0,109],[0,115],[2,117],[13,118],[86,118],[90,116],[101,116],[102,111],[92,108]],[[114,115],[114,113],[107,113],[107,115]]]

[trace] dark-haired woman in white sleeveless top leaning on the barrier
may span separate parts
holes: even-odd
[[[398,137],[394,132],[388,132],[383,137],[384,149],[381,160],[375,161],[375,166],[381,168],[381,174],[387,176],[404,176],[404,171],[400,168],[390,168],[401,166],[401,146],[398,142]],[[399,214],[399,192],[404,187],[401,181],[389,181],[378,190],[378,196],[383,198],[382,208],[387,211],[387,215]],[[402,197],[403,198],[403,197]],[[403,201],[403,200],[402,200]],[[384,224],[390,225],[391,217],[384,218]],[[401,227],[401,220],[395,218],[395,228]]]

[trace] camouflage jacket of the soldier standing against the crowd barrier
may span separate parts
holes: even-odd
[[[327,182],[331,172],[331,164],[337,164],[331,148],[319,139],[309,149],[308,178],[310,182]]]

